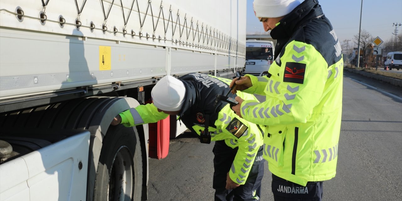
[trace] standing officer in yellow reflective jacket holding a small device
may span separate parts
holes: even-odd
[[[240,117],[263,125],[264,158],[275,200],[320,201],[335,176],[342,113],[340,43],[318,0],[254,0],[256,17],[277,40],[268,76],[246,75],[236,90]],[[243,101],[244,99],[244,101]]]

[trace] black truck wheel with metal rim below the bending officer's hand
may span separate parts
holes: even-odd
[[[94,201],[141,200],[142,158],[135,127],[111,126],[103,138]]]

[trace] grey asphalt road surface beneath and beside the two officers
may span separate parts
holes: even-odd
[[[344,72],[343,118],[336,177],[325,201],[402,199],[402,89]],[[370,87],[370,86],[373,87]],[[212,201],[213,143],[191,135],[170,141],[169,154],[150,159],[150,201]],[[260,200],[273,200],[265,168]]]

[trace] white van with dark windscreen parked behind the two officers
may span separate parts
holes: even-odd
[[[243,74],[263,76],[268,74],[269,66],[274,59],[274,43],[272,41],[246,41],[246,69]]]

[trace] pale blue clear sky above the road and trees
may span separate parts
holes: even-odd
[[[264,32],[263,25],[254,15],[253,1],[247,0],[247,34]],[[353,42],[353,36],[359,34],[361,0],[319,0],[319,3],[339,40],[350,39]],[[392,33],[395,26],[392,23],[402,24],[402,0],[363,0],[362,30],[385,42],[390,38],[394,39]],[[398,26],[399,34],[402,34],[402,26]]]

